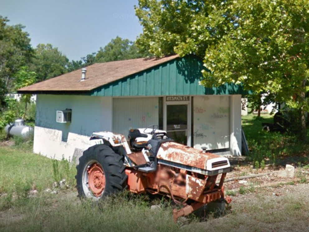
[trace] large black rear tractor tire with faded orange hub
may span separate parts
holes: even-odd
[[[98,144],[83,152],[76,166],[76,187],[80,198],[99,200],[126,188],[124,157]]]

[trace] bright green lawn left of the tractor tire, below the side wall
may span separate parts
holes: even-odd
[[[31,146],[31,145],[29,145]],[[75,187],[75,167],[66,160],[53,161],[27,150],[28,145],[0,147],[0,211],[29,201],[29,193],[53,188],[53,162],[59,162],[57,172],[69,188]]]

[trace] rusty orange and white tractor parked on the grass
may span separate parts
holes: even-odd
[[[229,160],[175,143],[156,125],[131,129],[128,140],[111,132],[93,133],[90,139],[96,145],[83,152],[76,167],[79,197],[99,200],[124,189],[167,195],[183,206],[174,210],[175,222],[207,203],[225,199]]]

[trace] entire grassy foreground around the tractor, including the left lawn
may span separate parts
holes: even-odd
[[[174,223],[175,206],[164,198],[122,192],[94,203],[78,199],[75,184],[57,194],[44,191],[52,188],[55,179],[74,181],[74,171],[75,167],[64,160],[52,161],[18,146],[0,147],[0,231],[238,232],[297,231],[309,227],[309,200],[305,191],[297,191],[297,196],[295,191],[289,196],[273,197],[269,190],[255,191],[249,187],[244,191],[254,194],[245,199],[241,195],[232,201],[232,213],[220,218],[210,216],[202,222],[190,216],[186,224]],[[306,186],[300,189],[308,191]],[[38,193],[29,195],[30,189]],[[151,210],[154,204],[161,207]]]

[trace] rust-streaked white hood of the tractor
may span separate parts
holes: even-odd
[[[175,142],[162,143],[157,153],[157,159],[159,163],[170,166],[188,166],[182,168],[191,169],[193,172],[218,170],[218,173],[222,173],[228,172],[230,169],[230,162],[226,157],[209,152],[203,153],[201,150]]]

